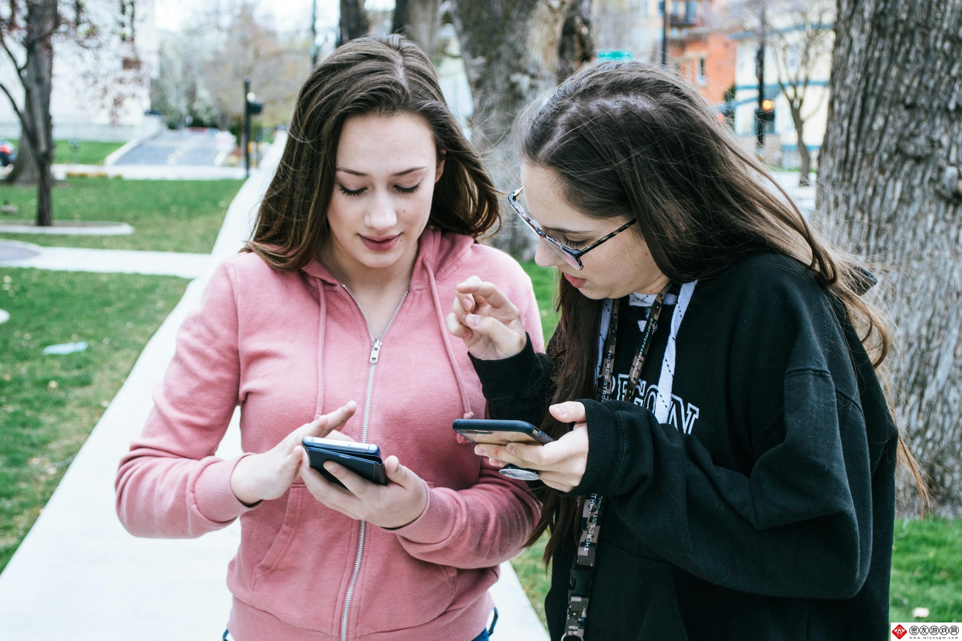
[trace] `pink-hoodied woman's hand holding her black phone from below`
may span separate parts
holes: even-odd
[[[324,469],[341,481],[346,490],[320,476],[308,460],[301,460],[300,477],[314,498],[331,509],[336,509],[358,521],[367,521],[381,528],[406,526],[424,511],[427,488],[417,474],[401,465],[397,456],[388,456],[384,471],[387,485],[378,485],[354,474],[343,465],[327,461]]]

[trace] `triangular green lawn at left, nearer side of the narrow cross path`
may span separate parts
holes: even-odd
[[[0,267],[0,570],[187,284]],[[42,353],[78,341],[88,349]]]

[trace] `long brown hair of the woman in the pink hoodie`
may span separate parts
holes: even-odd
[[[318,64],[301,87],[284,155],[246,251],[285,271],[316,257],[330,230],[327,208],[344,121],[395,113],[423,118],[444,160],[428,225],[475,238],[498,226],[491,176],[448,110],[434,65],[406,37],[359,37]]]

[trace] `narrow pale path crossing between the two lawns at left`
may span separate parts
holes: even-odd
[[[204,274],[210,262],[209,254],[40,247],[31,243],[0,240],[0,267],[152,274],[195,279]]]

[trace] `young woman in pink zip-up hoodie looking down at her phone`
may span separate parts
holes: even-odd
[[[475,240],[497,222],[491,179],[415,45],[361,38],[316,67],[253,239],[184,322],[116,479],[138,536],[241,518],[235,639],[487,638],[487,589],[539,505],[451,429],[486,402],[441,301],[484,273],[541,350],[530,279]],[[222,460],[237,406],[248,454]],[[350,491],[325,481],[305,435],[379,445],[389,483],[338,466]]]

